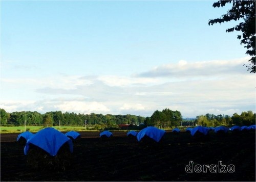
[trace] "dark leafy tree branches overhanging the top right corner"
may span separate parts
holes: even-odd
[[[251,56],[249,66],[246,66],[251,73],[255,73],[255,1],[218,1],[212,6],[223,7],[227,3],[232,3],[232,8],[222,15],[221,18],[210,19],[208,24],[213,25],[215,23],[223,23],[230,20],[243,19],[238,25],[233,28],[227,29],[226,32],[241,31],[243,34],[238,35],[238,39],[241,39],[240,44],[245,44],[247,48],[246,54]]]

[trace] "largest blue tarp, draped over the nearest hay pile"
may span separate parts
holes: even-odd
[[[54,129],[53,127],[47,127],[45,129],[41,129],[27,141],[24,153],[27,155],[29,144],[34,144],[54,156],[57,154],[59,148],[66,142],[69,144],[70,152],[73,152],[73,143],[69,137],[57,131],[57,129]]]

